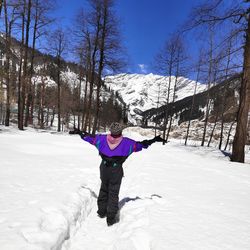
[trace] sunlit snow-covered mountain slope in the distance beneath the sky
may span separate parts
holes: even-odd
[[[170,102],[173,100],[175,77],[171,77]],[[136,113],[166,104],[169,77],[154,74],[119,74],[108,76],[105,83],[117,91],[124,102],[129,105],[129,121],[136,124],[140,119]],[[184,77],[178,78],[175,101],[194,93],[195,81]],[[198,83],[197,93],[206,89],[206,85]],[[158,101],[159,100],[159,101]]]

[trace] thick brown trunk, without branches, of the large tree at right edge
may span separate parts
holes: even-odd
[[[245,144],[247,140],[247,124],[250,103],[250,17],[246,31],[244,48],[243,78],[240,88],[240,103],[237,114],[236,132],[233,141],[232,161],[245,162]]]

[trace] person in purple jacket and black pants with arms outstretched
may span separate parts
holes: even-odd
[[[154,142],[165,141],[160,136],[141,142],[122,136],[123,126],[114,122],[110,126],[110,134],[90,135],[79,130],[74,132],[81,138],[94,145],[102,158],[100,165],[101,187],[97,199],[99,217],[107,217],[107,225],[118,221],[119,191],[123,177],[122,165],[133,153],[148,148]]]

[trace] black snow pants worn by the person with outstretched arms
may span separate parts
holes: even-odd
[[[99,215],[114,218],[118,212],[119,191],[123,177],[122,164],[102,161],[100,165],[100,178],[102,181],[97,199]]]

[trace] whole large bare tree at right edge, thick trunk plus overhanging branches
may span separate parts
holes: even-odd
[[[225,23],[238,25],[239,31],[245,34],[243,55],[243,79],[240,89],[240,103],[237,115],[236,133],[233,142],[232,161],[245,161],[245,144],[247,140],[247,124],[250,100],[250,9],[247,1],[231,1],[223,5],[223,0],[208,1],[206,4],[194,9],[189,28],[200,26],[204,23]]]

